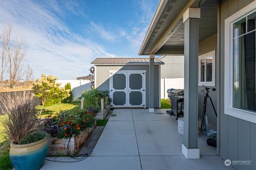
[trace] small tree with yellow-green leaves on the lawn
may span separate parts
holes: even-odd
[[[69,90],[66,90],[63,87],[60,87],[61,83],[56,83],[57,77],[52,77],[52,75],[48,75],[47,77],[42,74],[41,80],[36,79],[33,83],[33,93],[35,97],[41,99],[42,108],[39,112],[39,118],[41,118],[41,114],[43,112],[43,108],[47,101],[50,101],[55,98],[64,99],[69,97]]]

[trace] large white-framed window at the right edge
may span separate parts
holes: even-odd
[[[256,3],[225,20],[225,114],[256,123]]]

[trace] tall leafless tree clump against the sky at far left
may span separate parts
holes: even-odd
[[[23,73],[23,63],[25,60],[26,49],[24,48],[25,42],[22,36],[11,40],[12,25],[4,31],[5,44],[4,49],[7,55],[7,76],[10,81],[10,88],[13,88],[15,81],[20,80]]]

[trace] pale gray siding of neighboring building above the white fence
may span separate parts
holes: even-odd
[[[184,78],[184,56],[164,56],[161,60],[161,79]]]

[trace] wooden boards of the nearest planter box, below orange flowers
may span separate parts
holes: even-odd
[[[55,156],[58,154],[67,154],[65,149],[70,150],[72,154],[77,154],[77,152],[81,149],[84,145],[86,139],[89,137],[93,130],[92,128],[87,128],[86,130],[82,131],[79,135],[73,134],[70,141],[69,138],[50,138],[49,139],[49,149],[47,151],[47,156]],[[69,141],[69,145],[68,145]]]

